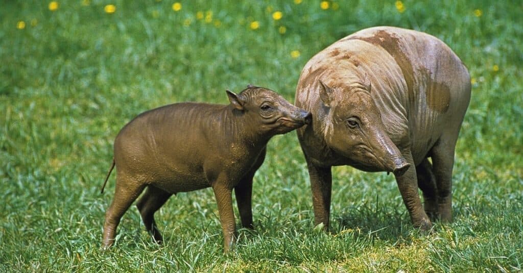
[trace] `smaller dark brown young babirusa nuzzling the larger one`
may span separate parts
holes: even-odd
[[[227,94],[230,105],[167,105],[123,127],[115,140],[111,170],[116,165],[116,192],[106,212],[104,248],[113,244],[122,215],[145,188],[137,207],[156,242],[163,237],[154,212],[177,192],[207,187],[218,203],[225,252],[235,241],[233,189],[242,225],[253,228],[253,176],[264,161],[267,142],[310,123],[311,114],[261,87],[249,85],[240,94]]]

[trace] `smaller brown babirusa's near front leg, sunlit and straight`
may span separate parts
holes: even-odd
[[[236,222],[232,209],[232,189],[225,186],[223,181],[217,181],[212,186],[218,204],[220,223],[223,230],[223,251],[229,252],[236,242]]]

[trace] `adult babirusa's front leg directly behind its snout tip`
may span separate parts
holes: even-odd
[[[408,168],[403,175],[396,176],[397,187],[400,189],[405,207],[411,216],[412,224],[416,228],[429,231],[432,228],[432,223],[427,217],[427,213],[425,213],[422,206],[422,201],[419,198],[416,168],[414,167],[412,154],[410,150],[408,150],[402,152],[402,155],[405,157],[405,160],[407,160],[407,163],[411,164],[411,167]]]

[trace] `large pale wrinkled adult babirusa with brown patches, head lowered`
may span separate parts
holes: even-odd
[[[364,29],[313,56],[301,73],[295,104],[313,115],[312,124],[297,132],[315,223],[328,228],[331,167],[338,165],[392,172],[417,228],[451,221],[454,147],[470,89],[458,56],[413,30]]]

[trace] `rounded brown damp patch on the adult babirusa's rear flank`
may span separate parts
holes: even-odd
[[[420,70],[426,82],[425,102],[427,106],[439,113],[445,113],[450,105],[450,88],[445,83],[434,80],[431,73],[425,67]]]

